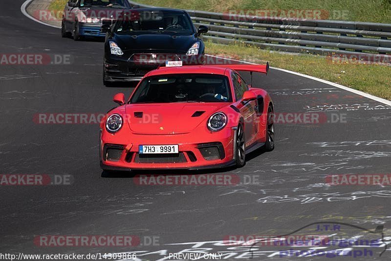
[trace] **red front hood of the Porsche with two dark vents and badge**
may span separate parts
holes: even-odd
[[[130,130],[138,134],[189,133],[199,124],[206,124],[209,117],[220,108],[219,103],[159,103],[126,105]],[[203,112],[203,113],[202,113]]]

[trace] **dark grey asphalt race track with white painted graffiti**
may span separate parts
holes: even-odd
[[[73,63],[0,66],[0,173],[71,175],[72,184],[1,186],[1,253],[139,251],[140,260],[169,260],[169,253],[202,248],[227,260],[248,259],[248,246],[218,241],[227,235],[285,235],[315,222],[369,230],[383,225],[384,237],[391,236],[389,187],[325,184],[331,174],[390,174],[391,106],[282,71],[254,74],[253,85],[271,94],[276,113],[318,112],[324,120],[277,122],[274,151],[247,155],[240,169],[221,170],[240,177],[236,186],[137,186],[134,173],[108,177],[100,169],[98,124],[33,120],[40,113],[106,113],[115,105],[114,94],[128,96],[132,89],[103,86],[102,42],[62,39],[59,29],[23,16],[22,2],[1,1],[0,53],[66,54]],[[322,233],[354,237],[362,230]],[[42,247],[34,243],[40,235],[135,235],[143,245]],[[146,242],[153,237],[158,242]],[[255,249],[254,260],[330,260],[273,255],[281,246]],[[382,257],[375,250],[361,259],[390,260],[388,250]]]

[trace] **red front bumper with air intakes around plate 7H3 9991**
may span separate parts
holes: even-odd
[[[235,165],[235,129],[226,127],[210,135],[137,135],[121,137],[103,132],[100,159],[104,170],[206,169]],[[139,154],[139,145],[178,144],[177,154]]]

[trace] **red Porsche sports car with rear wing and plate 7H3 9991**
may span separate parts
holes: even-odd
[[[243,166],[246,153],[274,149],[273,102],[238,71],[269,65],[163,67],[148,72],[100,126],[104,170]]]

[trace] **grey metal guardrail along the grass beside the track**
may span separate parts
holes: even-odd
[[[129,2],[140,7],[153,7]],[[195,25],[209,27],[203,38],[214,43],[244,43],[279,51],[347,55],[364,60],[377,57],[382,62],[391,63],[391,24],[186,11]]]

